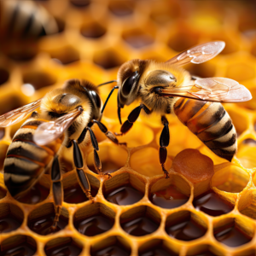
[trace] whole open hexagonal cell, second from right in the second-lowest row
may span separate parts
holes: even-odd
[[[182,241],[192,241],[204,236],[207,221],[194,212],[174,212],[166,218],[166,233]]]

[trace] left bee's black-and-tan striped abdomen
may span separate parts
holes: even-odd
[[[4,160],[4,183],[13,196],[32,187],[45,171],[62,139],[47,146],[33,142],[33,134],[43,121],[28,119],[16,132]]]

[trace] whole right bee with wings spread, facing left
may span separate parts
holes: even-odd
[[[118,72],[113,90],[118,91],[118,116],[120,110],[135,100],[140,105],[133,109],[121,126],[120,133],[129,131],[141,110],[146,114],[159,113],[164,128],[160,135],[160,165],[166,177],[166,147],[170,142],[166,114],[174,113],[213,153],[231,161],[236,154],[236,129],[219,102],[246,102],[252,99],[246,87],[232,79],[193,77],[183,69],[189,62],[200,64],[211,60],[224,49],[222,41],[200,44],[185,50],[166,62],[131,60],[125,62]],[[103,84],[100,84],[103,85]],[[113,90],[110,91],[109,97]],[[108,102],[105,102],[102,110]]]

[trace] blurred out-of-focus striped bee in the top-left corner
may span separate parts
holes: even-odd
[[[59,32],[55,17],[33,1],[0,1],[0,45],[9,55],[37,48],[38,38]],[[24,54],[24,53],[23,53]]]

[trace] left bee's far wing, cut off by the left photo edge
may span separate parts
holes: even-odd
[[[9,111],[8,113],[4,113],[0,116],[0,127],[7,127],[19,123],[22,119],[26,118],[27,114],[38,108],[41,101],[42,99],[39,99],[38,101],[31,102],[23,107]]]

